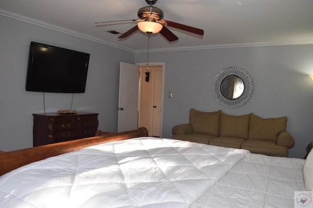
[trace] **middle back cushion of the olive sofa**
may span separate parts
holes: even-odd
[[[247,139],[250,114],[227,115],[221,113],[220,136],[240,137]]]

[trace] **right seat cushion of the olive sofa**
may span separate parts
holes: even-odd
[[[278,157],[288,156],[288,148],[276,145],[274,141],[248,139],[241,145],[241,149],[248,150],[255,154],[265,154]]]

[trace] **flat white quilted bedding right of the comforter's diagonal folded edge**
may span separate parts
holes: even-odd
[[[294,208],[305,160],[248,154],[190,208]]]

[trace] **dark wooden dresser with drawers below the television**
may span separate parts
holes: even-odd
[[[35,113],[33,146],[94,136],[98,129],[98,113]]]

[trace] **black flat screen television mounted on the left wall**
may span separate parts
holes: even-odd
[[[31,42],[26,91],[85,93],[90,55]]]

